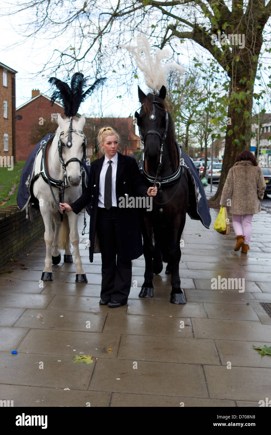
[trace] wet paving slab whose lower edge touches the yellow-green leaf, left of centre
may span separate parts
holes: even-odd
[[[70,357],[84,352],[95,358],[116,358],[119,342],[120,335],[117,334],[31,329],[17,350]]]

